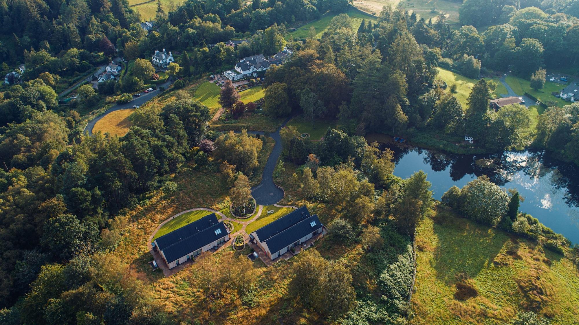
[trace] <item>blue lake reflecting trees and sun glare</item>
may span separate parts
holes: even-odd
[[[394,175],[408,178],[422,169],[432,183],[434,198],[481,175],[525,199],[519,210],[579,243],[579,173],[577,167],[542,152],[460,155],[408,145],[382,144],[394,152]]]

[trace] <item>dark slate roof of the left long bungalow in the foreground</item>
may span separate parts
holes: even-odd
[[[215,230],[218,229],[221,233],[216,235]],[[155,242],[157,248],[165,254],[167,262],[171,263],[227,234],[225,224],[218,222],[215,213],[211,213],[155,239]]]

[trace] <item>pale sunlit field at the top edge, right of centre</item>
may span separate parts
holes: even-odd
[[[415,12],[417,19],[428,19],[445,13],[446,21],[450,24],[459,23],[459,8],[461,3],[449,0],[354,0],[356,8],[364,12],[378,15],[383,6],[390,3],[392,8],[401,6],[409,12]],[[435,9],[433,12],[433,8]]]

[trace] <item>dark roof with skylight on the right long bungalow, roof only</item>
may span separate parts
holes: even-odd
[[[310,212],[303,206],[259,228],[255,234],[260,242],[267,244],[270,253],[276,253],[321,227],[318,216],[310,216]]]

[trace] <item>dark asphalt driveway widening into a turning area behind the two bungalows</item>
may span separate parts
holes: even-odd
[[[273,146],[273,150],[269,155],[269,158],[267,158],[265,168],[263,168],[261,183],[251,189],[251,195],[255,198],[255,202],[257,202],[258,205],[274,204],[284,198],[284,191],[273,183],[273,171],[276,169],[277,160],[281,154],[280,130],[285,126],[286,123],[288,123],[288,121],[290,121],[290,119],[291,117],[285,120],[276,132],[269,134],[269,136],[271,136],[276,141],[276,144]],[[263,132],[248,133],[263,134]]]

